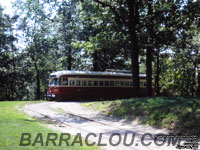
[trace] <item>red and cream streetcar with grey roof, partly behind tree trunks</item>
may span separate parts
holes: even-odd
[[[50,74],[48,98],[129,98],[133,92],[132,74],[119,71],[57,71]],[[145,96],[146,75],[140,75],[140,91]],[[154,94],[154,87],[152,87]]]

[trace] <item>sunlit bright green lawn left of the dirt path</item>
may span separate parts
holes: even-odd
[[[44,144],[48,133],[58,133],[46,128],[39,120],[28,117],[19,109],[28,102],[0,102],[0,150],[94,150],[97,146],[87,147],[75,144],[74,146],[66,146],[65,142],[62,146],[58,146],[59,140],[56,140],[56,145],[41,146],[37,143],[35,146],[19,146],[22,133],[31,133],[31,144],[36,135],[42,133]],[[60,133],[58,133],[60,135]],[[72,140],[74,138],[71,138]],[[72,140],[69,142],[72,143]],[[50,142],[51,143],[51,142]]]

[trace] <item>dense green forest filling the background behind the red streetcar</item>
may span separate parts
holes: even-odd
[[[41,99],[58,70],[130,70],[156,96],[200,94],[199,0],[16,0],[0,7],[0,100]]]

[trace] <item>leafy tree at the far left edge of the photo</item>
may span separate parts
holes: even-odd
[[[17,36],[13,28],[18,16],[3,14],[0,7],[0,100],[22,98],[26,68],[23,68],[23,55],[16,48]],[[20,92],[19,92],[20,91]]]

